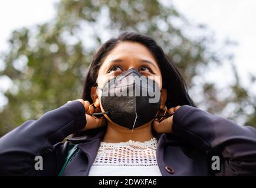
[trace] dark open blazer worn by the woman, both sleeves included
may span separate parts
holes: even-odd
[[[106,126],[91,134],[63,139],[86,125],[84,106],[73,101],[28,120],[0,139],[0,175],[58,176],[71,143],[78,153],[63,176],[88,176]],[[256,130],[239,126],[188,105],[173,115],[173,133],[158,134],[157,163],[163,176],[209,176],[214,153],[221,157],[215,175],[256,175]],[[43,170],[35,170],[35,156],[42,156]],[[143,176],[143,174],[142,174]]]

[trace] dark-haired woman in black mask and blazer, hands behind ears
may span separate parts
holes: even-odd
[[[256,130],[196,108],[148,36],[124,32],[104,43],[81,98],[1,137],[1,175],[256,174]]]

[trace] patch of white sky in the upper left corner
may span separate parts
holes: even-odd
[[[13,30],[40,24],[53,18],[55,2],[58,1],[0,1],[0,51],[7,48],[6,41]]]

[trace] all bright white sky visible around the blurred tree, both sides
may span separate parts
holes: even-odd
[[[55,15],[55,2],[59,0],[8,0],[0,1],[0,52],[6,51],[6,41],[14,29],[46,22]],[[163,0],[164,1],[164,0]],[[168,1],[168,0],[166,0]],[[218,41],[225,38],[238,42],[234,49],[235,65],[244,86],[248,84],[248,72],[256,75],[256,1],[254,0],[172,0],[179,12],[196,24],[206,24],[215,32]],[[0,60],[0,70],[2,62]],[[216,69],[209,80],[220,82],[228,79],[228,68]],[[218,77],[218,78],[216,78]],[[5,80],[5,81],[4,81]],[[8,81],[0,77],[0,91],[8,88]],[[225,81],[224,81],[225,82]],[[256,93],[256,89],[254,89]],[[0,92],[0,109],[6,103]]]

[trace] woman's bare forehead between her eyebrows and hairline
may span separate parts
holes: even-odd
[[[107,56],[107,59],[114,58],[150,58],[155,59],[146,46],[137,42],[120,42]]]

